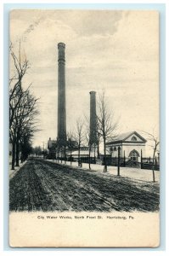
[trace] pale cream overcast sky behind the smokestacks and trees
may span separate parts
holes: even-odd
[[[34,145],[57,137],[58,47],[65,43],[67,130],[89,113],[89,91],[105,89],[120,132],[159,123],[159,17],[155,11],[14,10],[10,39],[31,68],[25,86],[40,97]]]

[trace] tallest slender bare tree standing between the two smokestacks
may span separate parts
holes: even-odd
[[[84,122],[81,118],[76,120],[75,127],[75,140],[77,142],[78,147],[78,166],[81,166],[81,147],[82,142],[84,141],[84,131],[83,131]]]

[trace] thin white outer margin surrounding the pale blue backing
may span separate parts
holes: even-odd
[[[25,1],[12,1],[12,0],[10,0],[10,1],[1,1],[0,2],[0,10],[1,10],[1,12],[0,12],[0,26],[1,26],[1,40],[0,40],[0,44],[1,44],[1,53],[2,53],[2,55],[1,56],[3,56],[3,3],[25,3]],[[83,1],[73,1],[73,2],[71,2],[71,1],[66,1],[66,0],[62,0],[62,1],[39,1],[39,0],[37,0],[37,1],[33,1],[33,0],[29,0],[29,2],[28,3],[103,3],[103,1],[89,1],[89,0],[86,0],[85,2],[83,2]],[[106,3],[140,3],[139,1],[130,1],[130,2],[128,2],[128,1],[125,1],[125,0],[123,0],[123,1],[106,1]],[[148,3],[147,1],[141,1],[141,3]],[[169,113],[168,113],[168,107],[169,107],[169,100],[168,100],[168,93],[169,93],[169,89],[168,89],[168,86],[169,86],[169,84],[168,84],[168,54],[169,54],[169,52],[168,52],[168,45],[169,45],[169,40],[168,40],[168,31],[169,31],[169,28],[168,28],[168,24],[169,24],[169,18],[168,18],[168,11],[169,11],[169,3],[168,3],[168,0],[163,0],[163,1],[150,1],[149,0],[149,3],[166,3],[166,131],[169,131],[169,125],[168,125],[168,116],[169,116]],[[1,96],[1,99],[0,99],[0,116],[1,116],[1,118],[2,118],[2,123],[1,123],[1,125],[0,125],[0,131],[1,131],[1,140],[0,140],[0,164],[1,164],[1,168],[0,168],[0,203],[2,204],[2,206],[1,206],[1,219],[0,219],[0,227],[1,227],[1,229],[0,229],[0,232],[1,232],[1,236],[0,236],[0,253],[1,253],[1,255],[6,255],[6,254],[8,254],[8,253],[14,253],[14,255],[18,255],[18,253],[20,254],[29,254],[29,253],[32,253],[32,251],[24,251],[24,252],[22,252],[22,251],[20,251],[20,252],[18,252],[18,251],[13,251],[13,252],[11,252],[11,251],[3,251],[3,57],[1,57],[1,63],[0,63],[0,71],[1,71],[1,73],[0,73],[0,77],[1,77],[1,81],[2,81],[2,83],[1,83],[1,86],[0,86],[0,96]],[[169,142],[169,140],[168,140],[168,138],[169,138],[169,135],[168,135],[168,133],[166,132],[166,159],[168,158],[168,156],[169,156],[169,145],[168,145],[168,142]],[[95,255],[95,254],[100,254],[100,255],[103,255],[103,253],[104,254],[118,254],[118,255],[122,255],[123,253],[125,253],[125,255],[131,255],[131,254],[134,254],[135,255],[135,253],[137,253],[137,254],[142,254],[142,253],[144,253],[144,255],[146,256],[146,255],[149,255],[149,254],[151,254],[151,253],[154,253],[154,254],[156,254],[156,255],[166,255],[166,253],[167,253],[167,255],[168,255],[168,253],[169,253],[169,246],[168,246],[168,241],[169,241],[169,236],[168,236],[168,230],[169,230],[169,223],[168,223],[168,218],[167,218],[167,216],[169,216],[168,215],[168,213],[169,213],[169,211],[168,211],[168,187],[169,187],[169,185],[168,185],[168,177],[169,177],[169,173],[168,173],[168,168],[169,166],[168,166],[168,162],[166,162],[166,251],[129,251],[129,250],[126,250],[126,251],[113,251],[113,250],[110,250],[110,251],[107,251],[107,250],[104,250],[104,251],[93,251],[93,249],[89,249],[89,250],[83,250],[83,251],[79,251],[79,250],[77,250],[77,251],[75,251],[76,249],[70,249],[70,250],[66,250],[66,251],[36,251],[36,253],[37,254],[39,254],[39,255],[42,255],[42,254],[44,254],[44,253],[57,253],[58,255],[65,255],[65,254],[67,254],[68,252],[69,252],[69,255],[75,255],[75,254],[79,254],[79,253],[81,253],[82,255],[83,254],[91,254],[91,255]],[[6,184],[4,184],[4,185],[6,185]]]

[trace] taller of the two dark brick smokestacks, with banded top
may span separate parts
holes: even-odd
[[[58,44],[58,140],[66,142],[65,44]]]

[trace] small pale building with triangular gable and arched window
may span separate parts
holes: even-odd
[[[110,152],[112,157],[118,156],[118,147],[121,148],[121,157],[125,156],[127,159],[140,161],[141,150],[143,156],[145,155],[145,143],[147,141],[136,131],[129,131],[122,133],[118,137],[109,138],[106,143],[106,149]]]

